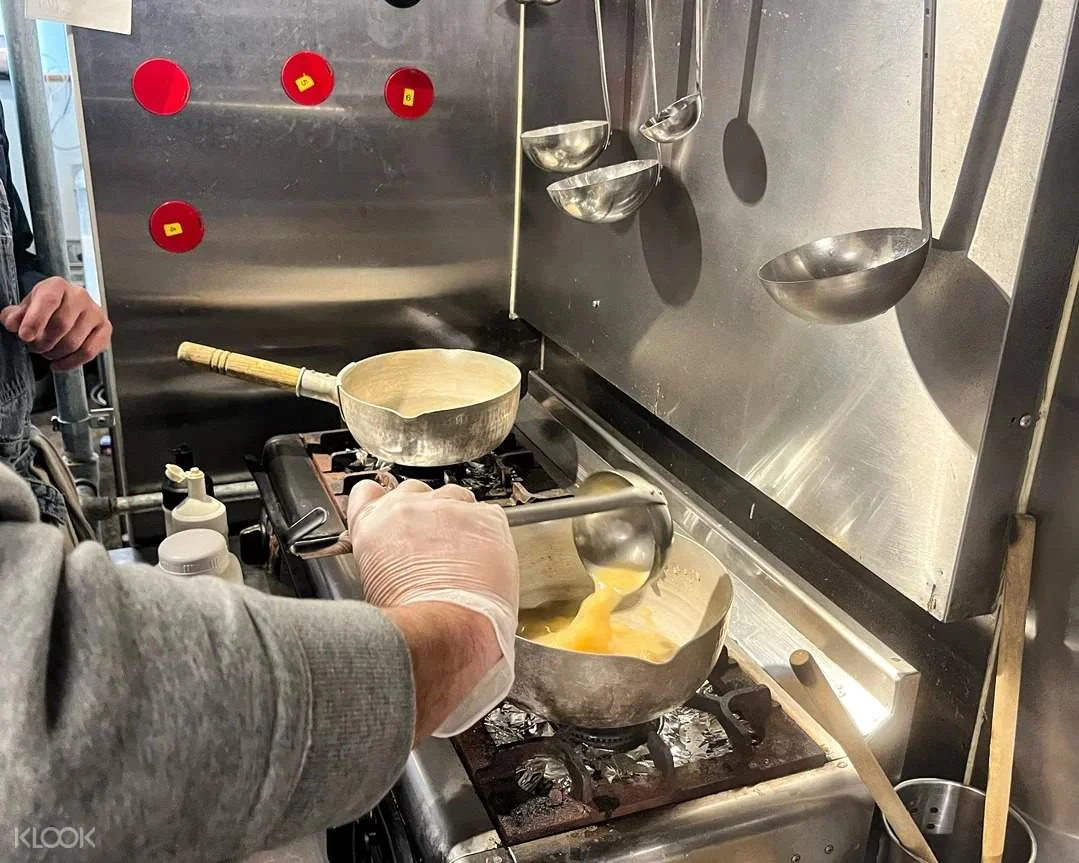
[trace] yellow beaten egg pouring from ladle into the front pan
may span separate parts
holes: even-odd
[[[521,613],[517,632],[537,644],[563,650],[666,662],[678,650],[674,642],[651,628],[612,618],[623,599],[640,590],[647,578],[648,573],[633,570],[598,569],[592,573],[596,590],[581,603],[576,615],[566,615],[564,603],[557,604],[561,607],[528,609]]]

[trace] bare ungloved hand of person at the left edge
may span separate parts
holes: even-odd
[[[112,337],[112,325],[90,294],[55,276],[35,285],[18,305],[0,310],[0,326],[50,360],[56,371],[90,362]]]

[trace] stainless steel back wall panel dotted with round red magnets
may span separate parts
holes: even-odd
[[[129,38],[74,38],[128,490],[156,483],[179,441],[227,475],[271,435],[340,424],[326,406],[181,368],[183,339],[325,370],[433,345],[528,365],[535,342],[505,311],[515,14],[443,0],[145,0],[134,14]],[[278,83],[300,50],[333,66],[320,106]],[[191,78],[175,117],[132,98],[153,56]],[[421,120],[384,105],[402,66],[434,81]],[[170,198],[206,223],[187,255],[148,235]]]

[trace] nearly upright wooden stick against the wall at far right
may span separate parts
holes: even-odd
[[[993,730],[989,735],[989,776],[985,786],[982,828],[983,863],[1000,863],[1008,831],[1012,765],[1015,758],[1015,723],[1026,641],[1026,606],[1030,599],[1035,520],[1016,516],[1011,526],[1005,586],[1000,601],[1000,644],[997,647],[996,685],[993,691]]]

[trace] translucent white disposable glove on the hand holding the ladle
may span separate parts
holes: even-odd
[[[365,480],[349,496],[349,534],[372,605],[448,602],[491,621],[502,658],[435,730],[435,737],[461,734],[496,707],[514,683],[517,549],[505,512],[477,504],[460,485],[432,491],[407,480],[387,492]]]

